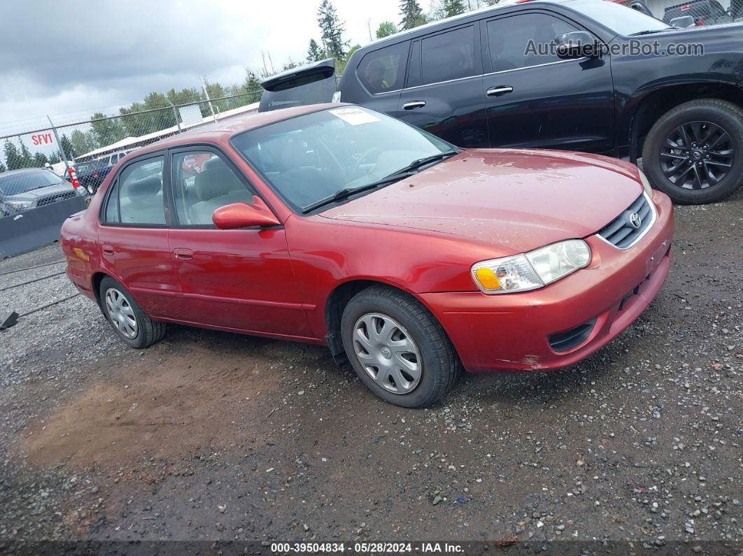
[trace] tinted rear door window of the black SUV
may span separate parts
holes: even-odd
[[[424,85],[480,73],[475,68],[475,27],[470,25],[423,39],[421,73]]]

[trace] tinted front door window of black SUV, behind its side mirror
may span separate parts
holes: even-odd
[[[562,19],[546,13],[524,13],[518,16],[493,19],[487,22],[487,43],[490,50],[491,71],[516,70],[532,65],[559,62],[557,56],[546,53],[539,56],[533,52],[545,51],[546,46],[557,35],[576,31],[577,28]],[[533,41],[533,48],[529,42]]]

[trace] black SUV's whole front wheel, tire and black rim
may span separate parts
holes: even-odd
[[[727,151],[732,154],[718,154]],[[643,169],[652,186],[675,203],[727,197],[743,181],[743,111],[732,102],[701,99],[666,112],[645,139]]]

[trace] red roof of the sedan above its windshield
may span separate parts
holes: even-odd
[[[142,148],[137,148],[136,156],[139,157],[142,154],[152,151],[160,151],[163,148],[173,148],[193,143],[224,143],[224,141],[233,137],[233,135],[242,133],[243,131],[262,128],[264,125],[281,122],[282,120],[291,120],[291,118],[303,116],[304,114],[311,114],[312,112],[319,112],[333,106],[338,107],[342,105],[348,105],[348,103],[336,102],[331,104],[328,102],[324,104],[294,106],[292,108],[281,108],[268,112],[253,112],[252,114],[246,114],[240,117],[232,117],[228,120],[200,125],[198,128],[192,128],[189,131],[184,131],[184,133],[161,139]]]

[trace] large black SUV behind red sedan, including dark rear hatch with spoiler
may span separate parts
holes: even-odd
[[[260,110],[332,98],[462,147],[642,157],[653,186],[709,203],[743,176],[742,37],[743,24],[678,29],[608,1],[520,2],[360,48],[337,91],[332,62],[273,76]]]

